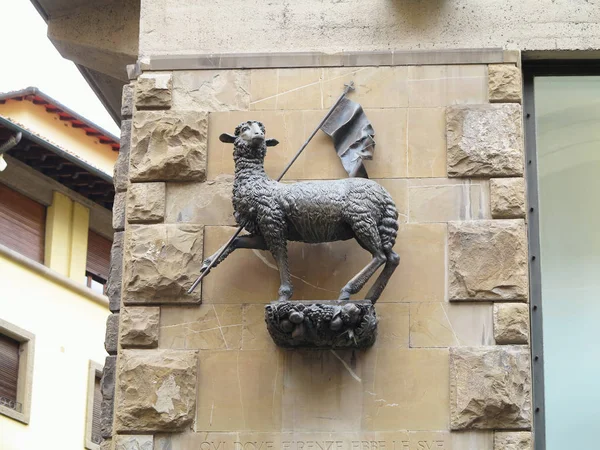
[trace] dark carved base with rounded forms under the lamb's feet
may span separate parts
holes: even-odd
[[[377,314],[368,300],[271,302],[265,322],[280,347],[367,348],[377,337]]]

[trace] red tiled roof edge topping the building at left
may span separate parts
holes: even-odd
[[[33,104],[43,106],[47,112],[58,114],[60,120],[71,122],[73,128],[82,128],[88,136],[97,138],[102,144],[110,145],[114,151],[119,151],[121,148],[119,138],[114,134],[67,108],[36,87],[0,93],[0,104],[6,103],[6,100],[31,100]]]

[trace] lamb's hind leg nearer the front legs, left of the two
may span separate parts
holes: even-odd
[[[358,243],[371,253],[373,259],[342,288],[340,300],[350,300],[350,296],[359,292],[386,261],[379,232],[374,222],[362,220],[352,224],[352,230]]]

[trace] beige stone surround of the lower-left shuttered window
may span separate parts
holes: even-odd
[[[8,336],[20,344],[17,402],[22,405],[20,412],[8,406],[0,405],[0,414],[28,425],[31,417],[35,335],[2,319],[0,319],[0,334]]]

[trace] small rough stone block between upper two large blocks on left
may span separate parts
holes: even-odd
[[[129,223],[162,222],[165,218],[165,183],[133,183],[127,191]]]

